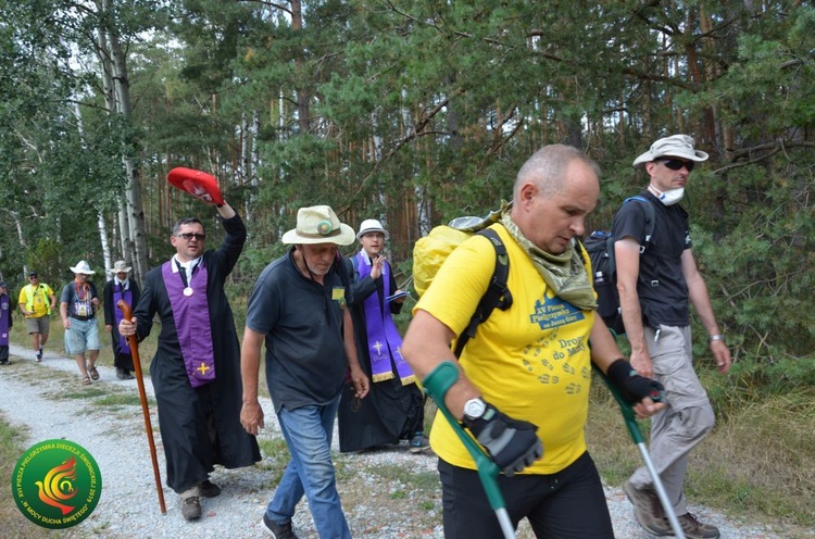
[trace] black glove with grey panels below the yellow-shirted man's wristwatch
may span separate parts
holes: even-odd
[[[531,465],[543,455],[543,444],[538,439],[538,427],[529,422],[513,419],[492,404],[478,419],[464,418],[478,443],[487,449],[490,459],[507,477]]]

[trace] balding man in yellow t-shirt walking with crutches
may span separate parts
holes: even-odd
[[[661,387],[632,373],[594,315],[590,262],[575,237],[597,204],[598,175],[575,148],[536,152],[518,172],[511,209],[492,225],[506,246],[512,305],[478,326],[456,362],[450,342],[468,325],[496,265],[489,240],[474,236],[439,270],[402,344],[421,379],[443,361],[460,367],[444,404],[503,472],[512,525],[526,517],[538,537],[614,537],[584,437],[591,362],[641,416],[664,408],[651,399]],[[444,537],[501,537],[476,464],[442,415],[430,446],[439,455]]]

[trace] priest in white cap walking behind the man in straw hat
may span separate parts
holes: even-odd
[[[402,310],[405,294],[397,288],[385,255],[388,230],[377,220],[365,220],[356,239],[362,249],[349,259],[351,315],[362,369],[372,381],[365,399],[354,398],[346,385],[337,415],[340,451],[362,451],[409,440],[410,451],[428,449],[424,434],[424,396],[416,376],[402,358],[402,337],[392,315]]]

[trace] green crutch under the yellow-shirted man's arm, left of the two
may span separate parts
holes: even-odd
[[[487,500],[489,500],[490,507],[496,512],[498,523],[501,525],[501,530],[504,534],[504,539],[515,539],[515,528],[512,526],[510,521],[510,514],[506,512],[506,504],[504,498],[501,496],[501,489],[498,487],[498,465],[487,456],[484,450],[471,438],[462,428],[461,424],[453,417],[453,414],[447,409],[444,404],[444,394],[459,379],[459,369],[453,365],[451,361],[444,361],[439,366],[432,369],[423,380],[425,392],[436,402],[447,421],[450,422],[450,426],[459,436],[459,439],[464,443],[464,447],[469,452],[471,456],[476,463],[478,468],[478,478],[481,481],[484,491],[487,493]]]

